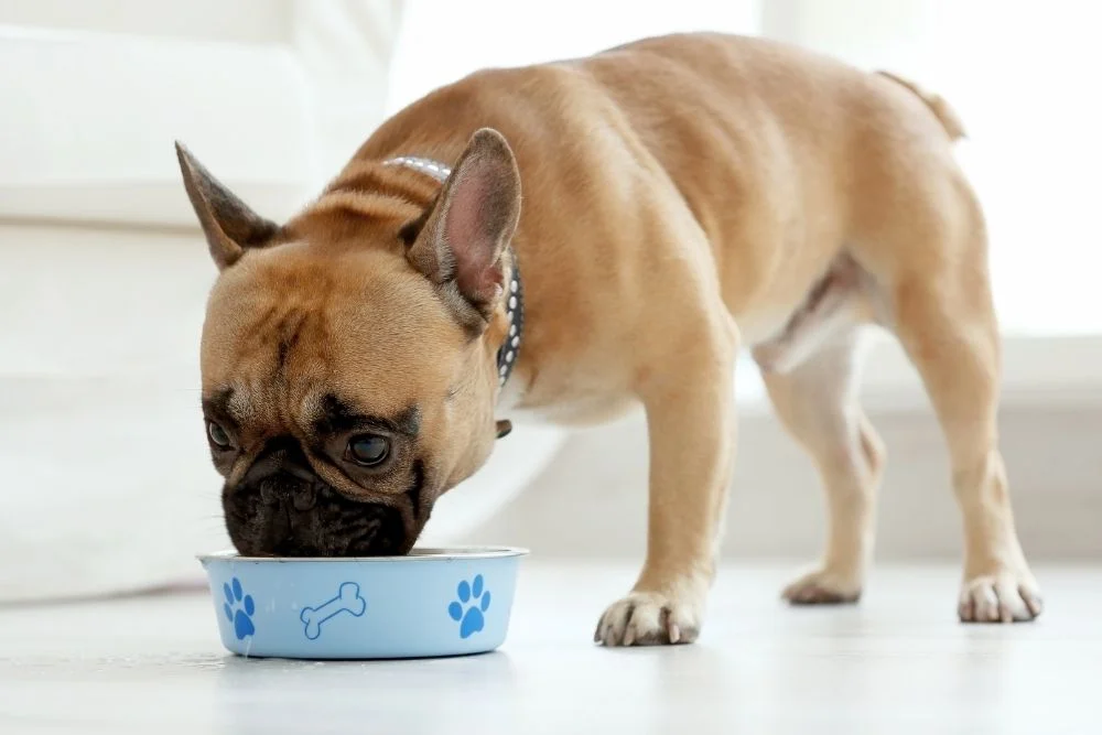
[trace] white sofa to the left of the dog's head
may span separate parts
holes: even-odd
[[[226,543],[196,429],[214,269],[172,143],[273,215],[313,147],[287,3],[220,6],[0,3],[0,599],[164,584]]]

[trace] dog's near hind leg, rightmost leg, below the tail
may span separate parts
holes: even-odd
[[[893,328],[922,377],[949,445],[964,520],[960,618],[1029,620],[1040,614],[1041,602],[1018,542],[998,451],[1001,345],[983,218],[971,190],[960,185],[958,193],[961,206],[953,216],[930,217],[926,227],[912,218],[899,236],[896,249],[916,248],[915,236],[927,236],[925,252],[936,257],[893,274]]]

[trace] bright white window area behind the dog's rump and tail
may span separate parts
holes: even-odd
[[[771,0],[768,35],[888,68],[946,97],[984,204],[1012,335],[1102,335],[1102,6],[1080,0]],[[1102,368],[1102,366],[1099,366]]]

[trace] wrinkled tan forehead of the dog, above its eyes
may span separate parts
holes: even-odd
[[[203,329],[205,397],[285,422],[323,413],[331,397],[399,415],[446,389],[465,337],[403,259],[296,255],[250,256],[215,285]]]

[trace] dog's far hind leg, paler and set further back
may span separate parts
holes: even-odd
[[[857,404],[861,349],[855,325],[788,372],[763,369],[774,410],[811,456],[827,493],[822,560],[784,591],[793,604],[861,596],[875,537],[884,445]]]

